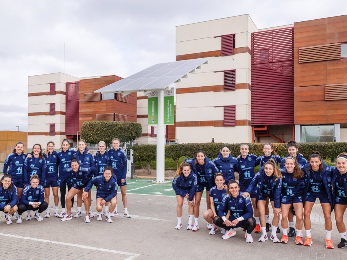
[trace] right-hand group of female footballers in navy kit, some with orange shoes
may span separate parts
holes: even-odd
[[[287,243],[288,236],[295,236],[297,245],[312,245],[310,215],[319,198],[325,220],[325,247],[334,248],[331,241],[331,212],[341,240],[338,248],[345,248],[346,226],[343,222],[347,208],[347,153],[341,153],[336,166],[328,166],[319,152],[312,152],[308,162],[299,154],[297,144],[290,140],[288,155],[282,158],[270,143],[263,146],[264,155],[249,154],[246,144],[240,146],[241,155],[230,154],[230,147],[223,146],[217,158],[211,161],[203,150],[198,150],[194,159],[186,159],[176,171],[172,187],[177,198],[177,225],[182,226],[182,206],[188,201],[187,230],[199,229],[198,217],[202,193],[206,188],[207,210],[203,216],[210,234],[217,231],[222,239],[236,235],[234,230],[242,227],[246,242],[252,243],[252,231],[261,233],[258,241],[268,240],[270,231],[269,201],[273,209],[270,240]],[[280,167],[278,167],[280,164]],[[254,167],[260,165],[257,174]],[[238,182],[235,172],[239,173]],[[296,216],[294,228],[294,215]],[[281,216],[282,238],[279,220]],[[193,219],[194,218],[194,219]],[[288,232],[289,222],[289,232]],[[193,224],[194,223],[194,224]],[[302,240],[302,228],[306,238]]]

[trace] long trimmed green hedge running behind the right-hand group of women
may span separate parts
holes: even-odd
[[[202,149],[207,157],[211,160],[218,156],[223,145],[228,145],[233,156],[240,155],[240,144],[224,144],[224,143],[204,143],[204,144],[177,144],[165,146],[165,158],[172,159],[178,164],[178,159],[181,156],[189,158],[195,157],[196,151]],[[255,155],[263,155],[264,143],[248,143],[249,153]],[[288,154],[287,144],[273,143],[273,148],[276,153],[282,157]],[[323,159],[337,157],[339,153],[347,151],[347,142],[303,142],[298,143],[298,150],[306,159],[310,157],[312,151],[319,151]],[[156,145],[138,145],[133,146],[134,160],[146,164],[147,171],[150,172],[150,163],[156,159]]]

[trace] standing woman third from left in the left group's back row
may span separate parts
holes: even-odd
[[[54,197],[54,217],[58,217],[58,206],[59,206],[59,196],[58,196],[58,167],[59,159],[58,153],[53,150],[54,142],[50,141],[47,144],[46,149],[43,152],[43,156],[46,159],[47,168],[46,168],[46,184],[44,185],[44,201],[47,202],[48,208],[45,218],[50,217],[51,213],[49,211],[49,196],[50,196],[50,187],[52,187],[53,197]]]

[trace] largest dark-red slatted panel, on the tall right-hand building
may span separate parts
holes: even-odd
[[[251,34],[251,124],[294,124],[294,28]]]

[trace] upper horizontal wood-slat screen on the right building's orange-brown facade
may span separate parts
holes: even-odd
[[[341,43],[299,48],[299,63],[341,59]]]

